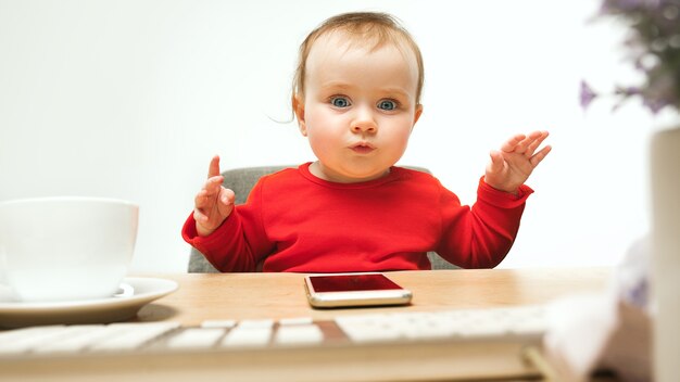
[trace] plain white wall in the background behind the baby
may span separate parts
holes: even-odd
[[[313,160],[290,120],[297,49],[351,10],[399,16],[426,62],[425,113],[402,164],[473,203],[490,149],[549,129],[502,267],[613,265],[648,227],[646,141],[631,101],[587,113],[581,78],[637,78],[592,1],[0,0],[0,200],[127,199],[141,206],[135,271],[181,271],[179,235],[210,157],[223,168]],[[39,217],[37,217],[39,218]]]

